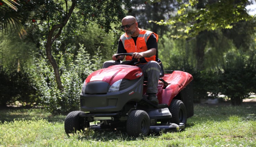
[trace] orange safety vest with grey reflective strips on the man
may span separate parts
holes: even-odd
[[[149,30],[144,30],[140,29],[139,36],[136,41],[136,45],[134,43],[134,40],[131,38],[131,36],[128,36],[126,33],[121,35],[120,40],[122,41],[125,50],[127,53],[140,53],[140,52],[145,52],[148,50],[147,48],[147,40],[151,34],[154,34],[156,36],[156,42],[158,41],[158,35],[155,34],[152,31]],[[156,55],[151,56],[151,57],[144,57],[147,62],[149,61],[156,61]],[[126,56],[126,61],[131,60],[131,56]]]

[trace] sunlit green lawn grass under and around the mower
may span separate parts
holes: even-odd
[[[86,130],[67,137],[65,116],[43,109],[0,110],[0,147],[128,146],[128,147],[253,147],[256,146],[256,104],[195,104],[194,116],[181,132],[128,137],[124,132]]]

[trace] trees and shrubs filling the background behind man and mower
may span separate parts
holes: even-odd
[[[194,102],[224,94],[240,105],[255,94],[252,1],[0,2],[1,107],[19,101],[53,114],[79,109],[82,83],[116,52],[126,15],[159,34],[165,70],[193,75]]]

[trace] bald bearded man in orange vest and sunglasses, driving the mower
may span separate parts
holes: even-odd
[[[136,66],[140,67],[144,76],[148,78],[147,94],[148,100],[158,104],[156,94],[158,92],[157,85],[160,75],[160,65],[157,61],[157,41],[158,35],[152,31],[138,28],[138,22],[133,16],[126,16],[122,19],[122,29],[125,34],[121,35],[118,42],[117,54],[132,53],[132,56],[126,56],[126,61],[136,58],[140,63]],[[112,56],[113,61],[107,61],[103,64],[103,68],[111,65],[117,65],[125,56]]]

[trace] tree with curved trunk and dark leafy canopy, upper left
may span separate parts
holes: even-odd
[[[63,39],[62,33],[67,26],[70,35],[77,35],[77,30],[86,30],[90,22],[109,32],[111,24],[119,24],[125,16],[123,6],[130,7],[129,1],[122,0],[55,0],[55,1],[30,1],[20,0],[17,12],[11,11],[17,16],[17,20],[25,27],[30,27],[34,33],[41,33],[46,42],[48,61],[54,69],[58,89],[62,90],[60,71],[53,49],[58,48],[57,43]],[[8,8],[6,8],[8,9]],[[27,11],[24,11],[27,10]],[[5,16],[8,18],[8,16]],[[29,24],[29,25],[28,25]],[[3,26],[4,28],[5,26]],[[35,34],[35,36],[38,34]],[[39,36],[39,35],[38,35]]]

